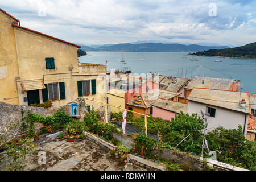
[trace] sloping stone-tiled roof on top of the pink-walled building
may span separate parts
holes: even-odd
[[[166,104],[168,104],[168,107],[166,107]],[[159,107],[161,109],[172,111],[178,114],[181,114],[180,111],[183,111],[183,113],[187,113],[187,110],[188,110],[187,104],[164,100],[162,98],[159,98],[154,104],[152,104],[152,106]]]

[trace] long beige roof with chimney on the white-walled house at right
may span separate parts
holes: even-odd
[[[241,100],[246,101],[245,107],[239,106],[239,97],[240,92],[237,91],[193,88],[188,100],[250,114],[248,92],[241,92]]]

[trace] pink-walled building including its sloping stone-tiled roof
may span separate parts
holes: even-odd
[[[158,98],[158,100],[152,104],[152,116],[155,118],[162,118],[171,121],[171,119],[175,118],[175,115],[180,114],[181,111],[183,111],[183,113],[187,113],[187,107],[187,104],[183,104],[181,102]]]

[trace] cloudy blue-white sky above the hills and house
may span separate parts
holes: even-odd
[[[255,0],[1,0],[22,26],[72,43],[256,42]]]

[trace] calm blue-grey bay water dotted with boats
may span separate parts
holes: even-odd
[[[256,59],[187,56],[188,52],[86,52],[81,62],[106,64],[107,70],[130,67],[133,73],[158,72],[164,76],[206,76],[241,80],[242,91],[256,93]],[[120,64],[120,60],[126,64]],[[187,58],[185,58],[187,56]],[[198,59],[191,61],[190,58]],[[223,60],[221,63],[215,60]]]

